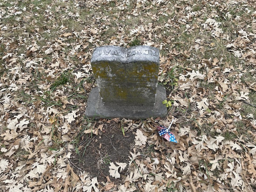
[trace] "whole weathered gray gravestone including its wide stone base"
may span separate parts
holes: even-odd
[[[165,88],[157,84],[159,50],[150,46],[101,46],[91,59],[98,87],[87,100],[87,118],[165,117]]]

